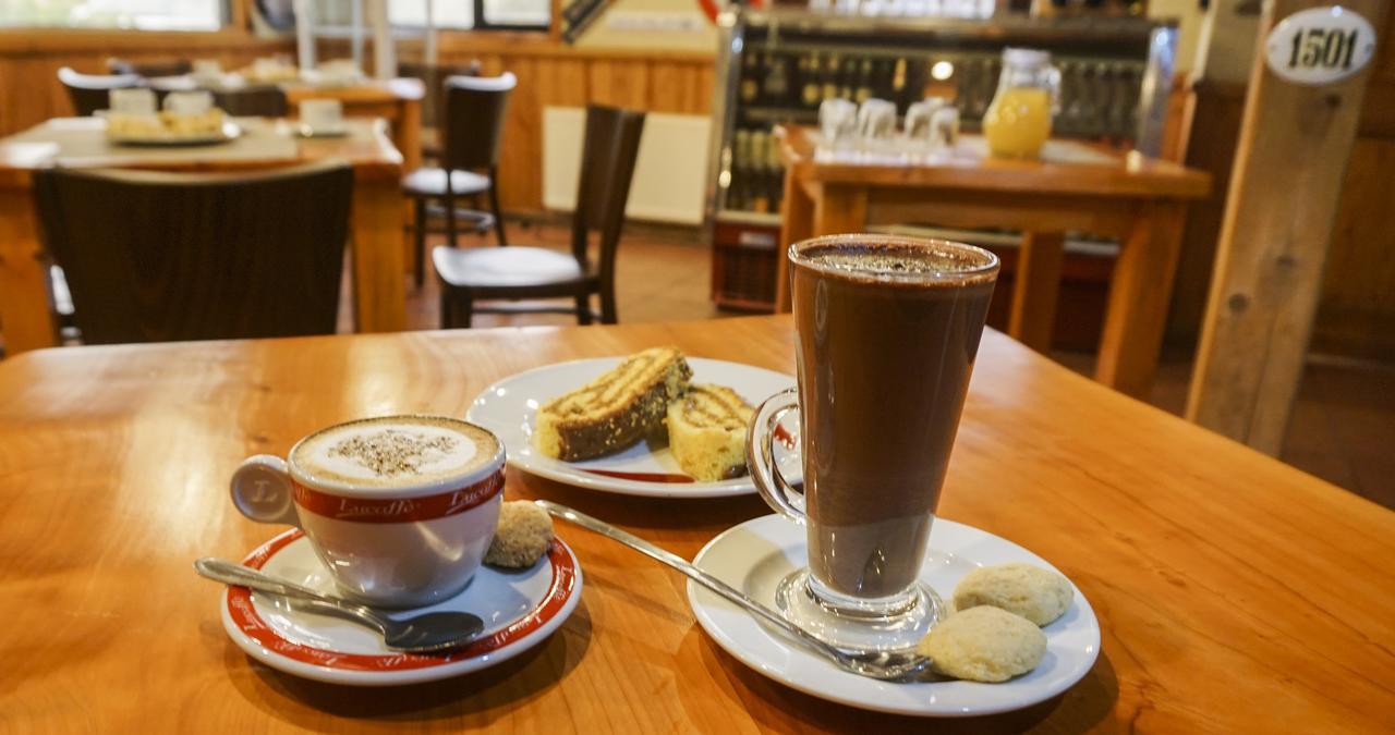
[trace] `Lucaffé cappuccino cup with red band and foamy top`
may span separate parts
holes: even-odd
[[[421,607],[474,577],[504,502],[504,442],[439,416],[382,416],[322,428],[282,459],[248,457],[233,505],[300,527],[354,601]]]

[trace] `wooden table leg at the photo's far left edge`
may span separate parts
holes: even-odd
[[[59,343],[29,183],[6,185],[0,188],[0,328],[7,357]]]

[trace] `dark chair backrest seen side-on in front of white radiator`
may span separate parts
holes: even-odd
[[[586,138],[572,215],[572,254],[585,266],[586,243],[600,232],[600,275],[615,275],[615,250],[625,225],[625,202],[635,177],[644,113],[591,105],[586,107]]]

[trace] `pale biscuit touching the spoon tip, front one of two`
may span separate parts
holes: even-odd
[[[946,676],[1006,682],[1036,668],[1046,656],[1046,635],[1027,618],[981,605],[940,621],[917,650]]]

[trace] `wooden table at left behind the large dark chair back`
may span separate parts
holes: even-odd
[[[121,148],[93,117],[49,120],[0,139],[0,329],[6,354],[56,344],[47,266],[31,172],[46,166],[236,170],[342,159],[353,165],[353,285],[359,331],[406,328],[402,155],[378,120],[349,121],[343,138],[300,139],[283,123],[239,119],[243,137],[204,148]]]

